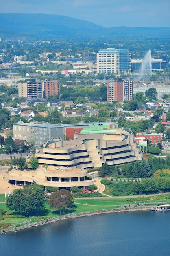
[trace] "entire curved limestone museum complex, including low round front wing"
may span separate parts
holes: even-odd
[[[87,169],[99,168],[105,162],[120,165],[142,160],[142,153],[129,130],[114,129],[109,124],[90,124],[69,128],[69,136],[73,139],[53,139],[37,149],[37,170],[12,170],[4,178],[15,185],[36,183],[59,189],[88,188],[95,179],[89,180]]]

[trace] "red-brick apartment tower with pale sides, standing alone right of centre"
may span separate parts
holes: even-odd
[[[117,81],[107,82],[107,102],[124,102],[133,99],[133,82],[123,81],[118,79]]]

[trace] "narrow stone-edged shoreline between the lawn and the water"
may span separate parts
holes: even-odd
[[[95,216],[95,215],[102,215],[106,213],[118,213],[118,212],[129,212],[129,211],[148,211],[151,210],[150,206],[137,206],[137,207],[129,207],[129,208],[113,208],[113,209],[104,209],[104,210],[96,210],[96,211],[87,211],[82,213],[71,213],[63,216],[58,217],[52,217],[48,221],[42,220],[39,222],[31,223],[28,225],[24,225],[21,227],[15,227],[15,228],[7,228],[7,229],[0,229],[0,234],[6,234],[7,232],[17,232],[18,230],[22,229],[28,229],[31,227],[37,227],[40,225],[46,225],[49,223],[61,221],[61,220],[68,220],[73,218],[80,218],[80,217],[87,217],[87,216]],[[28,223],[28,222],[27,222]]]

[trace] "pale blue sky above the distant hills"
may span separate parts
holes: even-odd
[[[170,27],[170,0],[1,0],[2,13],[46,13],[104,27]]]

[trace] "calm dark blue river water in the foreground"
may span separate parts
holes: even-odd
[[[170,255],[170,212],[63,220],[0,235],[0,256]]]

